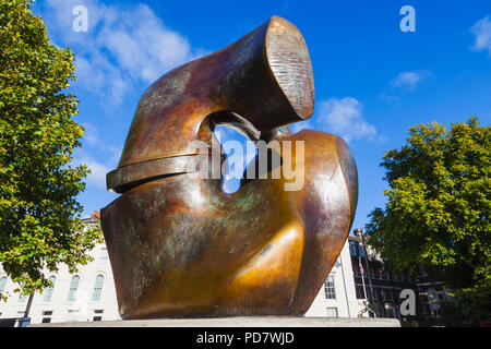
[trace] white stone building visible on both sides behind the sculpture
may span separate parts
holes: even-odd
[[[85,222],[98,224],[98,214],[94,215]],[[92,255],[94,262],[81,266],[76,274],[60,267],[57,274],[49,276],[55,287],[34,294],[29,311],[32,324],[121,320],[106,245],[97,245]],[[7,302],[0,301],[0,321],[24,316],[28,297],[14,293],[16,287],[0,267],[0,293],[9,296]],[[306,316],[357,317],[359,310],[346,243]]]

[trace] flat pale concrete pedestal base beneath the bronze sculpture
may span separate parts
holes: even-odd
[[[33,324],[29,327],[400,327],[396,318],[240,316]]]

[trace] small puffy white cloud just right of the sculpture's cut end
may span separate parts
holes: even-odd
[[[307,128],[333,133],[348,143],[376,136],[376,129],[363,119],[362,105],[352,97],[323,100],[312,119],[292,125],[295,132]]]

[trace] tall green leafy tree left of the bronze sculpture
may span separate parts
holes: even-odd
[[[0,0],[0,263],[25,294],[49,285],[46,270],[75,272],[100,229],[83,228],[85,166],[71,167],[81,128],[77,100],[62,93],[74,56],[49,44],[32,1]]]

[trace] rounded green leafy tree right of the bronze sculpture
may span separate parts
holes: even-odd
[[[490,127],[477,117],[450,131],[412,127],[383,157],[387,201],[366,226],[393,268],[444,281],[464,324],[491,321],[490,152]]]

